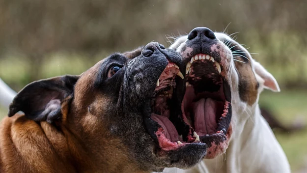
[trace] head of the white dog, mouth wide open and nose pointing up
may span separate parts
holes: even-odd
[[[279,91],[274,77],[224,33],[199,27],[175,40],[186,66],[184,121],[208,145],[205,158],[225,152],[240,111],[254,107],[263,88]]]

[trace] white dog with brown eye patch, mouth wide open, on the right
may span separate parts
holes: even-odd
[[[185,108],[183,112],[200,140],[208,144],[208,150],[206,158],[194,168],[167,168],[164,172],[290,173],[287,158],[258,106],[259,94],[264,88],[279,92],[275,78],[235,40],[207,28],[193,29],[189,35],[179,37],[170,48],[181,53],[187,64],[187,89],[195,91],[194,99],[202,98],[203,102],[195,101],[194,107],[198,109],[198,104],[203,104],[199,106],[203,116],[189,113]],[[225,87],[227,84],[229,90]],[[219,90],[221,85],[223,89]],[[223,95],[231,97],[230,103],[226,99],[224,107],[232,109],[231,114],[228,107],[220,111],[221,116],[217,115],[218,103],[225,100]],[[210,111],[213,114],[207,113]],[[231,117],[230,124],[223,122],[225,129],[221,129],[220,120],[206,117],[214,113],[220,119]],[[218,133],[222,134],[220,139]]]

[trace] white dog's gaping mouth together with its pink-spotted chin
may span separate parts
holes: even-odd
[[[186,91],[181,104],[194,137],[208,145],[206,159],[223,154],[232,134],[227,69],[210,55],[186,57]],[[189,142],[189,141],[188,141]]]

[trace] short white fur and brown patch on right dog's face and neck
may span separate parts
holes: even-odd
[[[271,128],[261,116],[259,94],[264,88],[279,91],[275,78],[251,58],[250,53],[224,33],[215,33],[224,43],[223,49],[232,48],[240,55],[233,55],[230,62],[233,134],[225,154],[214,159],[204,159],[190,170],[165,169],[165,173],[290,173],[287,158]],[[187,36],[180,37],[170,47],[185,53]],[[203,43],[204,45],[206,43]],[[228,48],[226,45],[229,45]],[[193,49],[193,48],[192,48]],[[192,50],[191,49],[191,50]],[[190,51],[191,52],[191,51]],[[238,53],[233,53],[238,54]],[[246,57],[246,58],[245,58]]]

